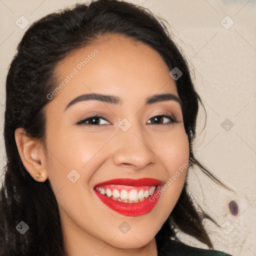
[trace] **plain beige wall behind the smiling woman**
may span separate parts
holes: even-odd
[[[26,22],[76,0],[0,0],[0,170],[5,164],[3,113],[8,65],[28,26]],[[229,192],[199,169],[190,168],[189,191],[221,228],[206,221],[215,249],[234,256],[256,255],[256,1],[132,0],[171,25],[170,30],[191,66],[195,87],[207,113],[200,109],[195,151]],[[24,17],[20,17],[24,16]],[[226,17],[228,16],[228,17]],[[27,20],[27,21],[26,21]],[[221,21],[222,20],[222,21]],[[228,202],[239,207],[232,216]],[[206,248],[179,233],[187,244]]]

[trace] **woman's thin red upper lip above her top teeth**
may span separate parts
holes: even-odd
[[[96,186],[101,185],[126,185],[126,186],[158,186],[162,185],[164,182],[155,179],[155,178],[139,178],[139,179],[132,179],[132,178],[114,178],[109,179],[104,182],[100,182],[96,184]]]

